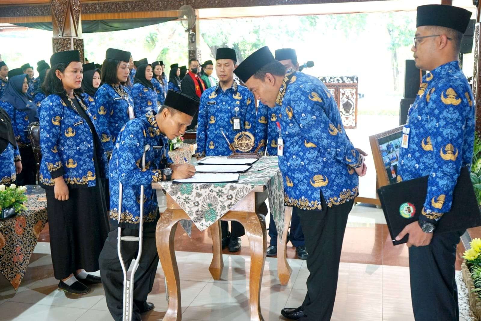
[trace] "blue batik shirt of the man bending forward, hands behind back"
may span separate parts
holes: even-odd
[[[327,87],[316,77],[288,70],[276,100],[284,141],[278,156],[284,203],[322,210],[354,199],[362,156],[346,136],[341,115]]]

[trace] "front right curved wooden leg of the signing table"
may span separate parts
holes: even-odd
[[[249,276],[249,306],[251,321],[264,321],[261,313],[261,284],[266,262],[266,222],[256,213],[247,213],[245,226],[251,247],[251,275]]]

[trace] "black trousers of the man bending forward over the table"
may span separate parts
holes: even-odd
[[[321,195],[322,209],[297,210],[305,236],[307,294],[302,304],[309,321],[329,321],[334,309],[342,240],[347,216],[354,201],[328,208]],[[303,319],[304,320],[304,319]]]

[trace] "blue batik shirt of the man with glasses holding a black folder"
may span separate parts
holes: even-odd
[[[451,210],[461,167],[473,156],[473,94],[457,61],[424,75],[405,127],[408,147],[401,148],[398,181],[429,175],[419,219],[437,222]]]

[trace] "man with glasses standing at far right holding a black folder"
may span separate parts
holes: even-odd
[[[465,231],[436,234],[451,210],[461,167],[469,166],[474,144],[473,94],[458,58],[471,12],[449,5],[418,7],[414,38],[416,67],[430,71],[408,112],[400,152],[398,181],[428,176],[428,195],[409,234],[411,299],[416,321],[457,321],[456,246]],[[451,213],[450,215],[456,215]]]

